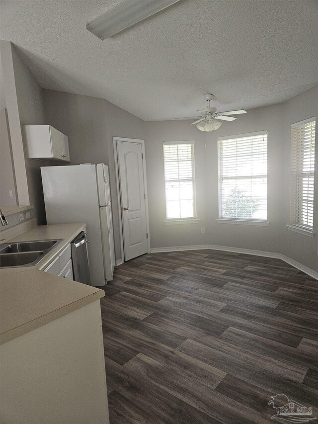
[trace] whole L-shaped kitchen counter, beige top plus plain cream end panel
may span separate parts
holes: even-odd
[[[0,269],[0,422],[109,424],[105,293],[44,271],[86,224],[16,227],[1,231],[4,243],[63,240],[37,265]]]

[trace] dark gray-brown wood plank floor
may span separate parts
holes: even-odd
[[[268,405],[277,394],[318,417],[318,281],[305,273],[169,252],[116,267],[104,290],[111,424],[282,422]]]

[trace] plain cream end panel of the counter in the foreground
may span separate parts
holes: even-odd
[[[109,424],[96,300],[0,346],[0,423]]]

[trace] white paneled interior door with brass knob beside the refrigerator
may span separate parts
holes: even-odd
[[[117,141],[125,260],[148,252],[141,143]]]

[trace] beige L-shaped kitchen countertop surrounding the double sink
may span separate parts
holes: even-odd
[[[105,295],[103,290],[41,270],[84,228],[83,223],[41,225],[5,241],[63,239],[37,265],[0,268],[0,344]]]

